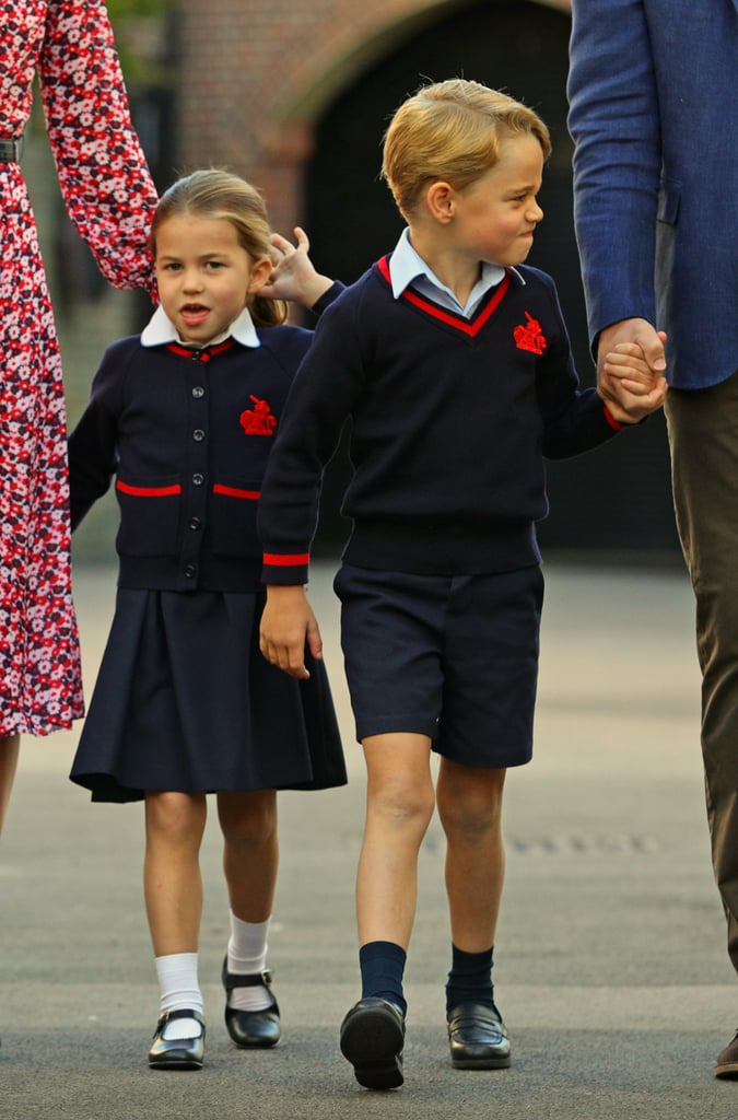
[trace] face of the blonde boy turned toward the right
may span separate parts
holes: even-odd
[[[492,264],[524,261],[543,217],[535,200],[542,175],[543,152],[535,137],[504,140],[495,166],[455,192],[456,248]]]

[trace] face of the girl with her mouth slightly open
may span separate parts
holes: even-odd
[[[224,218],[166,218],[156,233],[161,306],[185,343],[206,345],[233,323],[267,283],[271,261],[253,261]]]

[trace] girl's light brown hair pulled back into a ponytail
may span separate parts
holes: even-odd
[[[149,243],[155,256],[159,226],[167,218],[185,214],[230,222],[239,235],[240,245],[252,261],[270,255],[271,228],[264,199],[255,187],[239,175],[209,168],[193,171],[172,183],[159,199],[151,223]],[[259,327],[278,326],[287,318],[287,304],[264,296],[254,296],[249,302],[249,310]]]

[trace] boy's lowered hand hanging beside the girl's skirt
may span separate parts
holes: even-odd
[[[305,664],[306,645],[316,661],[323,657],[318,622],[305,588],[299,585],[268,587],[259,640],[263,656],[290,676],[306,681],[310,676]]]

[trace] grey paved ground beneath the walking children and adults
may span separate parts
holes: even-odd
[[[244,1054],[225,1035],[226,906],[213,820],[203,852],[207,1064],[189,1074],[147,1068],[157,990],[140,806],[91,805],[67,782],[74,735],[27,740],[0,848],[0,1117],[735,1120],[738,1084],[712,1076],[738,1023],[738,991],[709,866],[686,579],[551,566],[547,581],[536,755],[511,773],[506,802],[496,981],[512,1068],[463,1073],[447,1060],[436,822],[407,972],[405,1086],[367,1093],[338,1053],[338,1024],[358,995],[353,885],[364,788],[330,571],[319,568],[312,599],[351,783],[281,800],[271,962],[282,1044]],[[88,687],[112,594],[111,572],[78,571]]]

